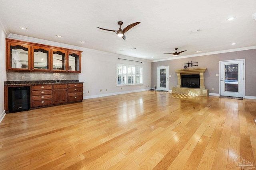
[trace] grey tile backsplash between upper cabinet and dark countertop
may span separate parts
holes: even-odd
[[[32,81],[32,80],[78,80],[78,73],[56,72],[6,72],[7,81]],[[24,79],[22,79],[24,76]]]

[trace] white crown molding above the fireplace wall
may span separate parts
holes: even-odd
[[[153,63],[153,62],[158,62],[158,61],[177,60],[177,59],[184,59],[184,58],[190,58],[190,57],[198,57],[198,56],[221,54],[221,53],[230,53],[230,52],[244,51],[244,50],[251,50],[251,49],[256,49],[256,46],[242,47],[242,48],[237,48],[237,49],[228,49],[228,50],[222,50],[222,51],[213,51],[213,52],[209,52],[209,53],[201,53],[201,54],[194,54],[194,55],[186,55],[186,56],[182,56],[182,57],[178,57],[178,58],[153,60],[151,62]]]

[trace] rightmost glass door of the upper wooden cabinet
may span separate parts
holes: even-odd
[[[68,51],[68,72],[80,72],[81,53]]]

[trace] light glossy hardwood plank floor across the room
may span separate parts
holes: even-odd
[[[256,100],[144,91],[6,114],[0,169],[255,167]],[[249,166],[250,167],[250,166]]]

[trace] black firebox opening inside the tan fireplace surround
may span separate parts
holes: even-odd
[[[181,75],[181,87],[200,88],[199,74]]]

